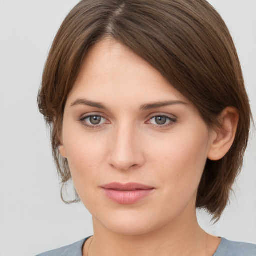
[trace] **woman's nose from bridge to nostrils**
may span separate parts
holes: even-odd
[[[117,127],[111,136],[108,163],[118,170],[142,166],[145,158],[138,132],[131,125]]]

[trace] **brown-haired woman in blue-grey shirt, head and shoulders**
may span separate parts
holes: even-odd
[[[41,255],[255,255],[195,214],[220,217],[251,118],[233,41],[206,1],[82,0],[38,105],[62,184],[72,179],[94,228]]]

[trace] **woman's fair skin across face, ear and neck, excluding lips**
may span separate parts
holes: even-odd
[[[94,236],[83,255],[89,244],[90,256],[213,255],[220,239],[199,227],[195,200],[207,157],[223,157],[234,138],[235,109],[221,118],[224,129],[210,130],[194,104],[129,48],[111,38],[95,44],[68,95],[59,147],[92,214]],[[110,182],[154,189],[120,204],[102,192]]]

